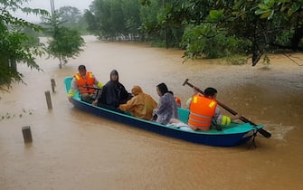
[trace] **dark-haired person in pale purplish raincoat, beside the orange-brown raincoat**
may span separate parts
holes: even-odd
[[[157,108],[154,109],[154,121],[160,124],[168,124],[170,119],[178,119],[178,105],[175,97],[167,89],[165,83],[156,86],[156,92],[160,96]]]

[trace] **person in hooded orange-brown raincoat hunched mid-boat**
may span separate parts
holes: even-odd
[[[139,119],[151,120],[153,110],[156,109],[156,101],[148,94],[144,93],[141,87],[135,85],[131,90],[133,98],[125,104],[120,104],[119,109],[129,112],[131,116]]]

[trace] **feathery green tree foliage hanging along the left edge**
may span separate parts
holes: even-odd
[[[0,91],[8,91],[12,82],[23,81],[23,74],[17,71],[17,63],[25,63],[31,69],[40,70],[35,56],[43,54],[43,44],[33,43],[24,28],[41,31],[38,25],[15,17],[11,12],[21,10],[27,14],[47,15],[42,9],[22,7],[25,0],[0,1]]]

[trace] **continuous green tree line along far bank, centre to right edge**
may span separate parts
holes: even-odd
[[[250,54],[255,65],[267,52],[303,50],[302,6],[297,0],[94,0],[84,17],[103,40],[177,47],[187,58]]]

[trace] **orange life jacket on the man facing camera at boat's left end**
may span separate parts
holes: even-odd
[[[86,79],[83,79],[79,73],[77,73],[74,77],[76,79],[76,84],[80,94],[84,94],[84,93],[92,94],[94,92],[94,89],[82,87],[82,86],[94,87],[95,78],[92,76],[91,72],[86,73],[86,77],[85,77]]]

